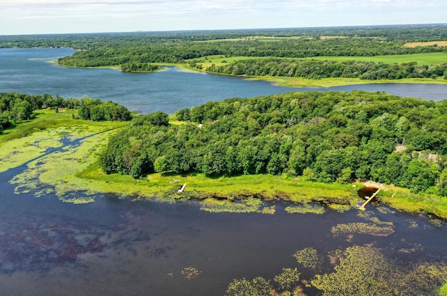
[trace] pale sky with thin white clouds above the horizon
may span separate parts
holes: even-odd
[[[0,35],[447,22],[446,0],[0,0]]]

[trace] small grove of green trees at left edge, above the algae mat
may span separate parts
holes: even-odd
[[[34,111],[40,109],[79,109],[82,119],[91,120],[131,120],[131,113],[115,102],[103,102],[87,96],[77,99],[64,99],[49,94],[29,95],[23,93],[0,93],[0,133],[11,123],[33,119]]]

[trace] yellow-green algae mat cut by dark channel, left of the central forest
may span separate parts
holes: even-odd
[[[33,192],[39,197],[56,194],[62,201],[87,203],[93,194],[104,192],[94,182],[78,178],[76,173],[96,162],[111,134],[101,127],[80,125],[36,132],[2,145],[0,172],[24,166],[10,183],[15,193]]]

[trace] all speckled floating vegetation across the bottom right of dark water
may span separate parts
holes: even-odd
[[[444,295],[447,276],[445,262],[420,260],[410,265],[403,265],[393,259],[392,250],[380,250],[374,247],[348,247],[332,252],[337,258],[333,269],[323,273],[314,273],[313,279],[303,279],[299,267],[284,268],[283,272],[274,276],[274,283],[261,276],[253,280],[235,279],[228,285],[226,296],[247,295],[307,295],[303,293],[308,288],[320,290],[323,296],[349,295]],[[318,265],[314,270],[323,267],[323,256],[316,254],[316,249],[307,248],[297,251],[297,254],[318,257]],[[301,255],[300,255],[301,256]],[[312,258],[304,260],[307,262]],[[298,260],[301,267],[306,267]],[[306,264],[306,263],[305,263]],[[444,285],[443,285],[444,283]],[[442,286],[441,286],[442,285]],[[302,294],[300,294],[302,293]]]

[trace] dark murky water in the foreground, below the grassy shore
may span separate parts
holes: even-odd
[[[210,213],[196,201],[116,196],[72,205],[13,194],[8,180],[19,171],[0,174],[0,295],[223,295],[233,279],[272,279],[283,267],[297,267],[292,255],[306,247],[325,254],[372,244],[408,262],[427,255],[447,260],[446,226],[426,217],[381,214],[372,206],[376,217],[394,222],[395,233],[334,237],[332,226],[363,221],[358,210],[291,215],[277,201],[275,215]],[[411,254],[397,251],[415,246]],[[185,267],[201,273],[185,279]]]

